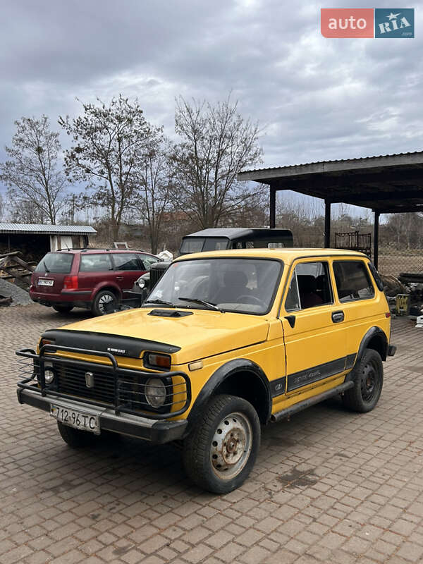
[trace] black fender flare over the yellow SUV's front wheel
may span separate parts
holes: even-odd
[[[259,367],[258,364],[252,362],[252,360],[248,360],[246,358],[237,358],[234,360],[229,360],[225,364],[222,364],[216,372],[210,376],[204,386],[201,388],[200,393],[198,394],[197,398],[195,399],[194,404],[188,414],[188,432],[192,429],[192,426],[195,425],[198,416],[204,410],[204,406],[207,404],[209,399],[212,397],[213,393],[216,389],[228,379],[233,374],[237,372],[243,372],[247,370],[252,374],[257,376],[257,381],[259,381],[263,386],[263,391],[266,395],[266,422],[269,421],[271,415],[271,391],[270,391],[270,383],[269,379],[267,378],[266,374],[262,368]]]

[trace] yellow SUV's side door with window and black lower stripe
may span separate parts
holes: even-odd
[[[292,396],[333,382],[345,372],[345,325],[336,305],[329,262],[293,265],[281,316],[286,344],[286,393]]]

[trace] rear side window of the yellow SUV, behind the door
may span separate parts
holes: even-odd
[[[373,298],[374,288],[364,262],[335,261],[333,262],[333,274],[335,274],[340,302]]]

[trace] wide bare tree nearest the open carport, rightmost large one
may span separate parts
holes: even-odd
[[[176,201],[198,226],[216,227],[255,193],[236,175],[262,161],[258,125],[240,116],[230,97],[215,106],[180,97],[175,130]]]

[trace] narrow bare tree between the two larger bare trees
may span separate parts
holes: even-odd
[[[137,177],[137,209],[147,223],[152,253],[157,254],[161,228],[166,214],[171,212],[171,169],[168,149],[163,137],[157,137],[144,155]]]

